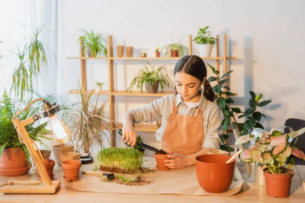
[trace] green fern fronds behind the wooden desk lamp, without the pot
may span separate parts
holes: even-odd
[[[32,99],[30,99],[27,104],[29,104],[31,100]],[[17,111],[15,111],[15,108],[11,103],[11,98],[9,98],[7,90],[4,89],[2,98],[0,99],[0,156],[5,148],[13,148],[15,151],[21,149],[25,154],[28,164],[31,165],[31,162],[29,161],[29,152],[25,145],[19,141],[17,131],[12,122],[12,118]],[[29,107],[26,111],[20,114],[18,118],[20,118],[20,120],[25,120],[26,118],[32,117],[39,112],[40,107]],[[47,146],[43,143],[43,140],[52,140],[51,138],[45,136],[45,134],[48,132],[46,125],[47,122],[40,125],[31,123],[25,126],[29,138],[45,147]]]

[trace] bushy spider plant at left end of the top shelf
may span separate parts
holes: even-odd
[[[88,57],[107,56],[107,40],[102,36],[102,33],[82,30],[84,35],[80,36],[77,42],[82,42],[81,49],[86,50]]]

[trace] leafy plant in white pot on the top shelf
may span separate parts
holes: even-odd
[[[210,31],[206,31],[207,29],[208,26],[199,28],[197,37],[194,39],[194,42],[198,44],[199,55],[201,57],[210,57],[212,47],[216,42],[216,38],[211,37]]]

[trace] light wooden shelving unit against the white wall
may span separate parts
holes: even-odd
[[[79,59],[80,60],[80,71],[81,71],[81,88],[86,91],[86,93],[90,93],[90,90],[87,90],[87,76],[86,76],[86,60],[94,60],[94,59],[105,59],[108,60],[108,90],[102,90],[101,92],[94,92],[94,94],[101,95],[109,95],[109,115],[110,118],[115,120],[115,96],[154,96],[154,97],[162,97],[168,94],[174,94],[174,91],[167,92],[157,92],[156,94],[147,93],[146,91],[121,91],[114,89],[114,68],[113,61],[114,60],[173,60],[177,61],[180,57],[114,57],[113,56],[113,40],[112,36],[107,37],[107,57],[85,57],[84,49],[80,50],[79,57],[67,57],[68,59]],[[219,56],[219,36],[217,36],[216,42],[216,57],[201,57],[203,60],[216,60],[216,69],[219,71],[220,60],[223,60],[223,74],[227,73],[227,60],[229,59],[237,59],[237,57],[229,57],[227,56],[227,35],[224,34],[224,55]],[[83,47],[80,44],[80,47]],[[189,55],[192,55],[192,36],[189,35]],[[77,94],[80,93],[79,90],[70,90],[69,93]],[[116,123],[119,128],[123,127],[123,124]],[[114,126],[113,126],[114,127]],[[159,127],[156,124],[136,124],[135,130],[142,132],[156,132]],[[228,129],[229,131],[229,129]],[[115,146],[115,130],[110,132],[111,146]]]

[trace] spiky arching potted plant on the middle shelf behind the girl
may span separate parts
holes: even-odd
[[[132,80],[127,91],[132,91],[132,88],[137,85],[137,88],[143,91],[143,85],[145,85],[148,93],[157,93],[159,83],[161,85],[162,91],[164,86],[170,85],[170,79],[165,72],[165,67],[162,65],[155,69],[155,66],[151,66],[149,62],[144,62],[144,67],[139,70],[137,76]]]

